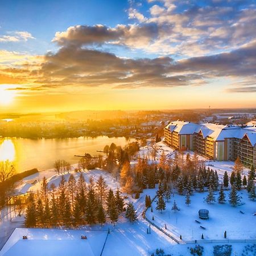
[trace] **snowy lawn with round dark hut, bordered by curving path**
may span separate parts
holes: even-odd
[[[228,200],[229,191],[225,191],[226,200]],[[154,222],[160,228],[165,228],[167,225],[167,232],[178,238],[180,235],[184,241],[201,240],[201,234],[204,234],[205,240],[223,240],[224,232],[227,232],[229,239],[256,239],[256,216],[253,216],[256,209],[256,202],[250,201],[245,190],[239,192],[242,196],[241,206],[232,207],[229,203],[226,204],[207,204],[204,197],[207,192],[198,193],[191,196],[192,203],[187,207],[185,205],[185,196],[176,195],[171,198],[169,203],[166,203],[166,210],[163,213],[158,212],[155,207],[156,203],[152,204],[153,212],[148,209],[146,216],[152,220],[154,215]],[[218,192],[216,192],[216,201]],[[171,210],[172,205],[176,200],[177,207],[180,208],[176,213]],[[156,200],[155,200],[156,201]],[[208,209],[209,220],[201,220],[198,216],[199,209]],[[242,214],[240,210],[244,213]],[[200,221],[197,223],[195,220]],[[200,228],[205,227],[205,229]]]

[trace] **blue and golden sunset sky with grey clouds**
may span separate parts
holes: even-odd
[[[256,108],[255,0],[0,6],[0,112]]]

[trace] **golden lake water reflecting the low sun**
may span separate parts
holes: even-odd
[[[106,144],[115,143],[125,146],[134,139],[125,137],[109,138],[106,136],[62,138],[62,139],[18,139],[0,138],[0,161],[14,162],[16,172],[23,172],[32,168],[39,171],[53,168],[55,160],[64,159],[74,164],[79,161],[74,155],[100,154]]]

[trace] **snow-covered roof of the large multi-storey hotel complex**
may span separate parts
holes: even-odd
[[[179,134],[194,134],[201,133],[203,137],[213,138],[213,141],[224,141],[225,138],[242,139],[245,134],[249,138],[250,143],[256,144],[256,126],[239,126],[239,125],[220,125],[218,123],[197,123],[174,121],[166,126],[171,132],[176,131]]]

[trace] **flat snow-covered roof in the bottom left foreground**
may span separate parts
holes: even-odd
[[[108,231],[68,230],[68,229],[20,229],[14,230],[11,237],[0,251],[0,256],[19,255],[26,251],[26,256],[53,255],[100,255]],[[22,237],[27,236],[27,240]],[[81,240],[87,236],[87,240]]]

